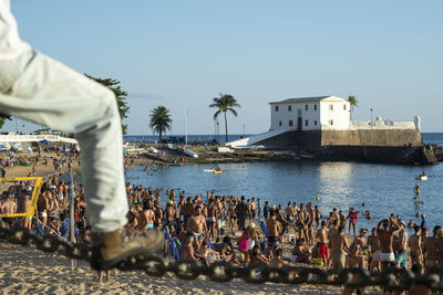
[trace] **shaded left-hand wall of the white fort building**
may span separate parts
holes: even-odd
[[[315,110],[315,105],[317,105],[317,110]],[[278,112],[276,112],[276,106],[278,106]],[[288,110],[288,106],[291,106],[291,112]],[[308,110],[306,110],[306,106],[308,106]],[[302,118],[301,130],[320,130],[320,105],[318,102],[270,105],[269,130],[285,128],[297,130],[299,113]],[[292,127],[289,126],[289,120],[292,120]],[[308,125],[306,125],[306,120],[308,120]],[[317,126],[315,125],[316,120]],[[279,122],[281,122],[281,126]]]

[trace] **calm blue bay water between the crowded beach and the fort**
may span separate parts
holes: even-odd
[[[443,134],[423,135],[425,143],[443,143]],[[268,200],[286,207],[288,201],[313,202],[323,215],[332,208],[348,213],[350,207],[359,212],[369,210],[372,220],[359,214],[359,226],[373,228],[391,213],[408,222],[420,223],[415,214],[425,214],[429,226],[443,225],[443,166],[399,166],[361,162],[256,162],[220,164],[220,175],[205,172],[215,165],[188,165],[143,171],[136,167],[126,172],[134,185],[186,190],[186,196],[215,190],[219,196],[245,196]],[[414,176],[424,170],[427,181]],[[424,204],[413,201],[415,183],[421,186]],[[318,198],[318,200],[316,200]],[[162,201],[165,201],[163,197]],[[364,203],[364,207],[362,206]]]

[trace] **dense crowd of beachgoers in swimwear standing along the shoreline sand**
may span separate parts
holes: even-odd
[[[84,188],[74,183],[76,239],[90,243]],[[27,211],[32,187],[20,181],[1,192],[0,213]],[[315,264],[333,271],[346,267],[383,270],[398,266],[416,272],[443,265],[443,230],[429,234],[425,217],[420,225],[406,225],[391,214],[369,232],[358,229],[359,212],[332,209],[324,214],[311,202],[288,202],[286,208],[244,196],[215,196],[207,191],[188,197],[186,191],[153,189],[126,183],[128,229],[162,229],[177,249],[176,259],[210,264],[227,261],[239,265],[265,263],[275,267]],[[69,236],[70,186],[58,176],[45,179],[37,203],[38,219],[3,219],[42,234]],[[162,200],[166,198],[166,200]],[[162,203],[164,206],[162,206]],[[327,217],[326,217],[327,215]],[[369,211],[361,212],[363,218]],[[348,228],[348,232],[347,232]],[[413,229],[409,238],[406,228]],[[164,254],[169,253],[165,244]]]

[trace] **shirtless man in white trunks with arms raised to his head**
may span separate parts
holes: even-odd
[[[392,266],[395,263],[395,255],[392,249],[392,241],[395,234],[400,232],[400,226],[395,222],[394,217],[390,217],[388,219],[383,219],[377,225],[377,234],[379,235],[381,254],[381,270]]]

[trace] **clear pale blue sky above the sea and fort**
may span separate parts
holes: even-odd
[[[443,131],[443,1],[13,0],[12,11],[35,49],[122,82],[128,134],[152,134],[157,105],[171,134],[185,133],[185,107],[189,134],[213,134],[220,92],[241,104],[233,134],[268,130],[271,101],[318,95],[357,96],[356,119],[372,107]]]

